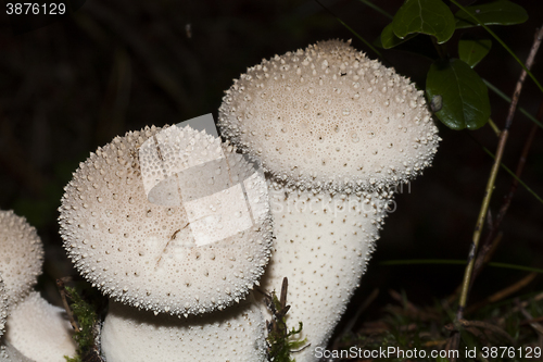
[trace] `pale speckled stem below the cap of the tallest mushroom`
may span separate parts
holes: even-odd
[[[388,196],[377,192],[341,196],[270,191],[274,251],[261,282],[280,292],[289,279],[289,327],[303,323],[301,339],[311,347],[292,354],[315,362],[315,348],[327,346],[366,270],[386,216]],[[266,319],[269,313],[263,309]]]

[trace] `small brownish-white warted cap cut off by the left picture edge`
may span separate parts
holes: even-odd
[[[30,292],[41,274],[43,246],[25,217],[0,210],[0,272],[11,308]]]

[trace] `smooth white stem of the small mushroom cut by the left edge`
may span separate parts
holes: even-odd
[[[49,304],[36,291],[10,311],[5,340],[25,357],[39,362],[74,357],[72,325],[62,308]]]

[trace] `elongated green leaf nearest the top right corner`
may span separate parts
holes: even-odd
[[[481,25],[477,24],[469,14],[476,15],[484,25],[513,25],[521,24],[528,20],[528,13],[522,7],[507,0],[497,0],[481,5],[467,7],[466,11],[458,11],[454,15],[457,29]]]

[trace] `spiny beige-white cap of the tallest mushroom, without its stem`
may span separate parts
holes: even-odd
[[[422,93],[350,41],[320,41],[249,67],[226,91],[218,126],[289,186],[383,188],[437,151]]]

